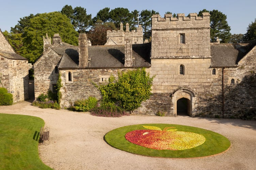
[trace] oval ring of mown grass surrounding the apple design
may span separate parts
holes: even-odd
[[[186,131],[186,132],[194,132],[201,134],[205,137],[205,142],[197,146],[195,148],[186,149],[186,150],[155,150],[145,148],[139,145],[135,145],[128,140],[125,139],[125,134],[134,131],[134,130],[142,130],[145,129],[142,125],[147,126],[157,126],[161,129],[165,127],[172,127],[174,126],[175,129],[178,131]],[[184,126],[184,125],[177,125],[177,124],[138,124],[138,125],[131,125],[131,126],[124,126],[118,129],[114,129],[108,132],[105,135],[106,142],[114,148],[139,154],[139,155],[146,155],[146,156],[154,156],[154,157],[172,157],[172,158],[190,158],[190,157],[203,157],[218,154],[221,152],[226,151],[230,147],[229,140],[212,131],[208,131],[201,128],[195,128],[192,126]]]

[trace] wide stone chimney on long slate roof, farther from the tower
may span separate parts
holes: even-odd
[[[78,37],[78,53],[79,53],[79,67],[86,67],[88,64],[88,45],[87,36],[84,33],[79,34]]]

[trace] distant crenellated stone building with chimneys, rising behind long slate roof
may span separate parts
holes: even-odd
[[[143,31],[141,25],[136,30],[129,31],[129,24],[126,23],[126,30],[123,31],[123,23],[120,24],[120,30],[107,31],[106,45],[124,45],[125,36],[130,36],[132,44],[143,44]]]

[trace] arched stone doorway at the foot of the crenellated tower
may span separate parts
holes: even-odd
[[[191,90],[178,89],[174,91],[172,94],[172,102],[174,104],[174,116],[188,115],[193,117],[195,100],[196,96]]]

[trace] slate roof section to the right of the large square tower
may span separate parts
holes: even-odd
[[[250,50],[248,44],[211,44],[211,67],[234,67]]]

